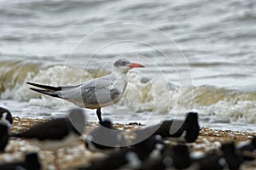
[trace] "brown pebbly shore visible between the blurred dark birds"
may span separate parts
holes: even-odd
[[[11,133],[21,132],[28,127],[32,127],[38,122],[44,121],[47,120],[30,118],[21,119],[15,117]],[[88,123],[87,128],[93,127],[96,127],[96,123]],[[139,128],[140,126],[116,124],[115,127],[122,129],[134,129]],[[252,139],[253,135],[256,135],[256,133],[213,130],[208,127],[201,127],[198,139],[195,143],[188,145],[191,150],[205,152],[218,150],[221,144],[229,141],[235,141],[236,144],[239,144],[243,141]],[[172,142],[170,142],[170,144],[172,144]],[[43,169],[57,169],[55,167],[58,167],[59,169],[73,169],[73,167],[80,167],[90,163],[90,161],[96,159],[96,157],[104,156],[102,153],[92,153],[85,150],[82,140],[78,141],[77,144],[60,149],[56,154],[54,154],[52,151],[39,150],[38,147],[33,146],[26,140],[10,139],[5,153],[0,155],[0,162],[21,161],[26,153],[32,151],[37,151],[39,153],[39,159],[43,164]],[[243,165],[242,169],[256,169],[256,162],[254,161],[250,165]]]

